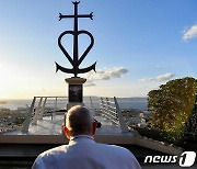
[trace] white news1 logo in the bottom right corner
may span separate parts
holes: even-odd
[[[195,151],[184,151],[179,158],[178,156],[147,156],[144,164],[175,164],[178,162],[181,167],[192,167],[196,159]]]

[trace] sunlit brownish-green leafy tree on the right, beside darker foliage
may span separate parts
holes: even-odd
[[[195,103],[196,83],[194,78],[175,79],[148,93],[148,106],[153,112],[150,124],[174,143],[184,134],[185,124]]]

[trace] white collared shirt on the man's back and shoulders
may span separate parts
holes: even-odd
[[[97,144],[93,137],[72,137],[69,145],[40,154],[32,169],[141,169],[126,148]]]

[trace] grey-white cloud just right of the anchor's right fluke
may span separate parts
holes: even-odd
[[[114,78],[120,78],[121,75],[127,74],[128,69],[124,67],[114,67],[112,69],[103,69],[103,70],[97,70],[96,74],[93,71],[90,71],[85,75],[85,78],[88,81],[85,82],[85,87],[92,87],[95,86],[94,81],[95,80],[111,80]]]

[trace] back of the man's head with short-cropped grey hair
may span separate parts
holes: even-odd
[[[72,106],[66,117],[66,126],[70,131],[71,136],[91,135],[93,117],[85,106]]]

